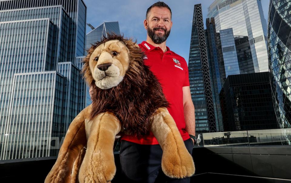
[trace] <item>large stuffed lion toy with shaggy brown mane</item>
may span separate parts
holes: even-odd
[[[113,145],[121,130],[135,135],[152,131],[167,176],[195,173],[162,87],[143,57],[138,45],[123,36],[108,35],[92,45],[82,68],[92,87],[92,104],[70,124],[46,183],[111,181],[116,172]]]

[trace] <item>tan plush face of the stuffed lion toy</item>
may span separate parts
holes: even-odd
[[[89,67],[95,85],[100,89],[117,86],[129,68],[129,50],[122,41],[100,44],[92,52]]]

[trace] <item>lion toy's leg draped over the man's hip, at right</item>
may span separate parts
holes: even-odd
[[[166,108],[152,116],[151,131],[163,150],[162,170],[171,178],[184,178],[195,173],[192,156],[186,149],[176,123]]]

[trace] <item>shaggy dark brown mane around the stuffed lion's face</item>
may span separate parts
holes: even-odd
[[[122,41],[129,49],[129,69],[123,80],[116,86],[102,90],[95,85],[95,80],[89,68],[89,59],[93,51],[100,44],[110,40]],[[126,132],[134,135],[148,134],[150,117],[159,107],[168,107],[162,87],[149,67],[144,65],[144,53],[136,45],[136,41],[125,39],[119,35],[108,35],[96,42],[88,50],[83,60],[82,74],[86,82],[92,87],[92,113],[90,120],[104,112],[112,112],[120,120]]]

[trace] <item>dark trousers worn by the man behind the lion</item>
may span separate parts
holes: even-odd
[[[192,155],[193,141],[184,141],[187,150]],[[162,148],[158,145],[140,145],[133,142],[121,141],[120,164],[125,182],[171,182],[189,183],[190,177],[174,179],[167,177],[161,167]]]

